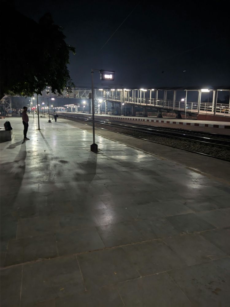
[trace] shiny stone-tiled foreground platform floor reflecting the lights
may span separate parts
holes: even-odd
[[[1,306],[229,304],[229,162],[97,128],[95,154],[91,126],[29,115],[24,141],[10,123]]]

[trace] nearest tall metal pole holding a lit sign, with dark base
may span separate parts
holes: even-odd
[[[93,69],[91,70],[91,79],[92,79],[92,93],[91,97],[92,98],[92,119],[93,119],[93,144],[90,145],[90,150],[97,153],[98,152],[98,145],[95,144],[95,122],[94,122],[94,71],[100,73],[100,79],[105,81],[114,81],[114,71],[107,71],[107,70],[102,70],[102,69]]]

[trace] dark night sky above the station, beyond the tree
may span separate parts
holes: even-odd
[[[69,64],[76,86],[90,86],[91,68],[116,71],[117,88],[230,85],[227,2],[13,3],[35,21],[50,12],[64,28],[66,42],[76,48]],[[99,79],[95,74],[95,85]]]

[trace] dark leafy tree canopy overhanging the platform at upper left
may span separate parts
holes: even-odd
[[[65,38],[50,13],[37,23],[2,3],[0,98],[40,94],[47,86],[58,93],[73,87],[67,64],[75,48]]]

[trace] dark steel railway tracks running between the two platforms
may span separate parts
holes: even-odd
[[[72,119],[72,120],[80,120],[83,121],[87,124],[92,123],[92,117],[86,117],[86,116],[77,116],[77,115],[69,115],[69,114],[60,114],[59,116],[67,118],[67,119]],[[185,129],[176,129],[176,128],[168,128],[168,127],[159,127],[159,126],[148,126],[148,125],[140,125],[140,124],[133,124],[133,123],[123,123],[119,121],[114,121],[114,120],[109,120],[109,119],[95,119],[95,124],[99,124],[101,126],[104,126],[104,129],[107,128],[115,128],[115,129],[122,129],[124,132],[123,134],[130,135],[128,133],[125,133],[125,130],[131,131],[132,133],[138,133],[138,134],[145,134],[148,136],[153,136],[153,137],[160,137],[160,138],[165,138],[165,139],[174,139],[177,141],[186,141],[186,142],[191,142],[194,144],[198,144],[201,146],[209,146],[209,147],[217,147],[225,150],[230,151],[230,137],[227,135],[219,135],[219,134],[214,134],[214,133],[207,133],[207,132],[202,132],[202,131],[193,131],[193,130],[185,130]],[[109,130],[109,129],[107,129]],[[118,131],[115,131],[118,132]],[[121,132],[118,132],[121,133]],[[137,137],[137,136],[135,136]],[[145,139],[144,137],[138,137]],[[163,144],[163,142],[158,142],[158,141],[152,141],[147,139],[148,141]],[[170,146],[170,145],[167,145]],[[190,151],[190,152],[195,152],[199,154],[205,154],[202,152],[194,151],[194,150],[188,150],[184,149],[178,146],[170,146],[170,147],[175,147],[175,148],[180,148],[182,150]],[[209,157],[215,157],[213,155],[205,154]],[[228,159],[222,159],[220,157],[215,157],[219,158],[221,160],[226,160],[230,161]]]

